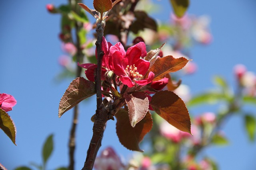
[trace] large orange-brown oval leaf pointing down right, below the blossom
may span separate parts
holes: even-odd
[[[188,109],[174,92],[160,91],[152,96],[150,105],[163,119],[181,131],[191,134]]]

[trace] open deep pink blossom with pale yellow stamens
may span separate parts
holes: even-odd
[[[152,82],[154,78],[154,73],[150,72],[148,78],[141,80],[150,66],[149,61],[140,58],[146,55],[146,45],[143,42],[128,48],[127,52],[121,43],[117,43],[110,47],[109,60],[106,61],[109,61],[109,68],[120,76],[123,84],[128,87],[133,87],[135,83],[143,86]]]

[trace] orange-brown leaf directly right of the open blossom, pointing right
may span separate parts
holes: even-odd
[[[176,72],[183,68],[188,63],[188,60],[184,57],[180,57],[178,59],[168,55],[163,58],[158,58],[156,61],[150,66],[148,72],[146,73],[146,77],[149,72],[152,71],[155,74],[154,80],[160,80],[165,76],[165,74],[169,72]]]

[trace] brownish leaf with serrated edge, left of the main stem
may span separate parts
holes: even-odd
[[[69,109],[72,109],[72,107],[76,106],[79,102],[95,93],[94,82],[90,82],[83,77],[76,78],[70,83],[60,100],[59,117]]]

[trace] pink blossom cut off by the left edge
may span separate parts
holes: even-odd
[[[16,100],[9,94],[0,94],[0,108],[4,111],[11,111],[12,107],[16,105]]]

